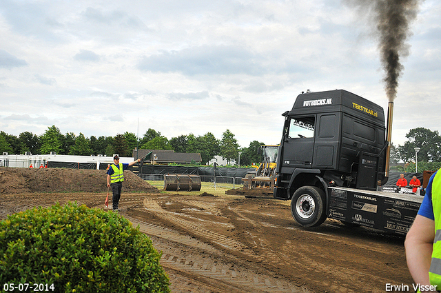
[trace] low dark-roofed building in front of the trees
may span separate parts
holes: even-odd
[[[135,160],[142,159],[146,155],[147,157],[144,159],[144,162],[150,162],[152,164],[189,164],[192,162],[202,162],[202,157],[199,153],[174,152],[174,150],[133,150]]]

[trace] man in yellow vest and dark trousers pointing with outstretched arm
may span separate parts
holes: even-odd
[[[107,187],[112,186],[112,205],[113,210],[116,212],[118,210],[119,199],[121,198],[121,189],[123,188],[124,181],[124,170],[141,162],[141,159],[130,163],[119,163],[119,156],[113,157],[114,164],[110,165],[107,170]]]

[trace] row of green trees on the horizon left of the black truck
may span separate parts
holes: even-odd
[[[258,154],[260,145],[258,141],[249,143],[249,147],[240,148],[234,134],[228,129],[222,134],[222,139],[216,139],[214,134],[207,132],[202,136],[196,137],[190,133],[167,139],[161,132],[149,128],[143,137],[136,137],[132,132],[116,134],[114,137],[85,137],[80,132],[77,136],[73,132],[62,134],[57,126],[52,125],[40,136],[32,132],[22,132],[19,136],[7,134],[0,131],[0,152],[8,154],[70,154],[90,156],[103,154],[112,156],[132,156],[135,148],[141,150],[174,150],[175,152],[200,153],[203,164],[207,163],[214,156],[219,155],[227,160],[238,161],[240,155],[240,165],[251,165],[260,163],[261,155]]]

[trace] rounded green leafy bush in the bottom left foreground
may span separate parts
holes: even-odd
[[[49,292],[170,292],[160,259],[127,219],[85,205],[34,208],[0,222],[1,290],[28,283]]]

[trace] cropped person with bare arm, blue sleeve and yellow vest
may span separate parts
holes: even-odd
[[[441,172],[429,180],[426,195],[404,241],[407,267],[417,292],[441,290]]]

